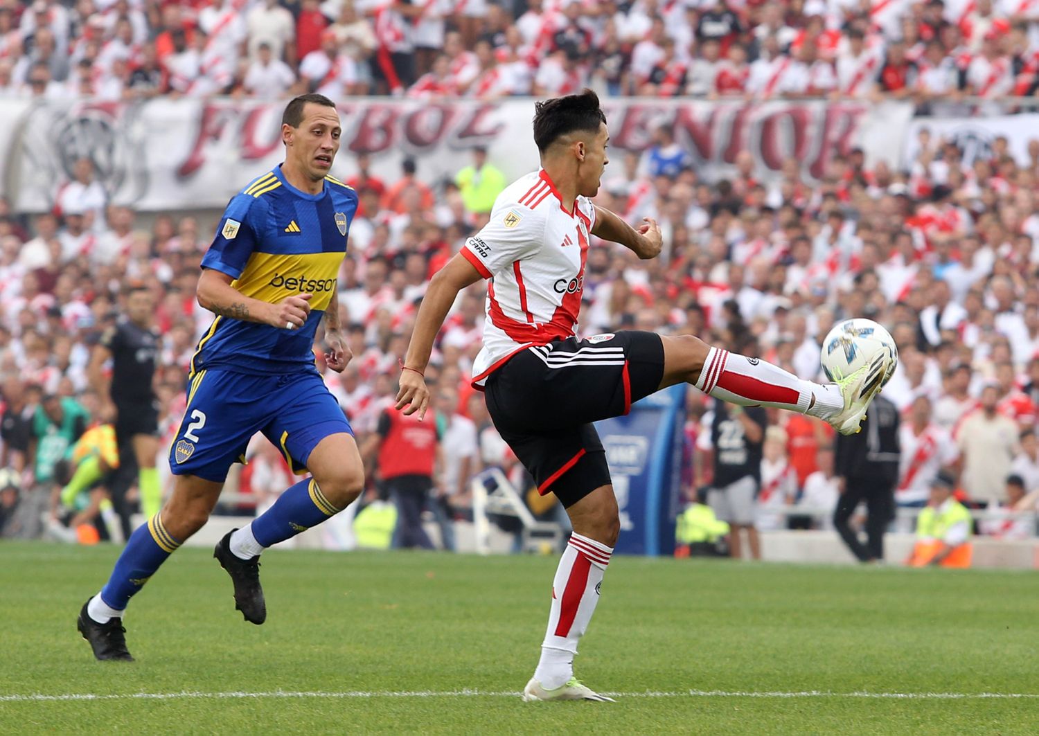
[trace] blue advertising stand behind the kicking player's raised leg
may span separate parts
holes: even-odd
[[[665,388],[634,404],[627,416],[595,425],[620,512],[616,552],[674,552],[687,390],[684,383]]]

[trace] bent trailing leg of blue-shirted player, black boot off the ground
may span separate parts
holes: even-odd
[[[213,550],[235,587],[235,608],[246,621],[262,624],[267,603],[260,584],[260,554],[335,516],[361,495],[364,465],[353,437],[345,432],[324,437],[307,460],[314,474],[291,486],[274,506],[247,526],[221,539]]]

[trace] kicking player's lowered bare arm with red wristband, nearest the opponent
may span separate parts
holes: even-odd
[[[415,318],[411,342],[407,346],[404,370],[400,376],[400,390],[397,392],[397,409],[405,414],[419,412],[419,418],[426,415],[429,406],[429,389],[423,374],[433,352],[433,340],[444,326],[448,310],[455,298],[465,287],[476,283],[483,276],[461,253],[455,254],[448,265],[437,271],[429,281],[426,296],[422,298],[419,314]]]

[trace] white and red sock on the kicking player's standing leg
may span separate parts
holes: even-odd
[[[613,548],[602,542],[570,535],[552,581],[549,628],[541,644],[541,660],[534,671],[534,679],[547,690],[554,690],[574,677],[578,640],[595,612],[600,584],[612,554]]]

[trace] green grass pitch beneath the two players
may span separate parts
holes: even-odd
[[[111,547],[0,544],[0,733],[1035,733],[1037,699],[619,697],[172,698],[18,694],[509,692],[537,660],[555,557],[270,551],[268,620],[183,549],[134,599],[136,662],[102,663],[76,615]],[[1039,692],[1028,572],[616,557],[578,676],[636,693]]]

